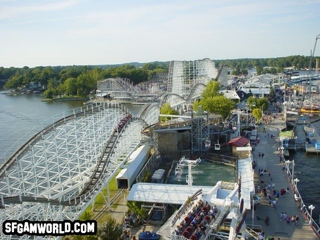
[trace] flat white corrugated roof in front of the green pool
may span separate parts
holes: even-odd
[[[183,204],[188,196],[197,190],[207,193],[212,186],[188,186],[177,184],[159,184],[139,182],[133,184],[127,196],[128,201]]]

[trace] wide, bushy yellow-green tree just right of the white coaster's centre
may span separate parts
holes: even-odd
[[[234,102],[226,98],[224,95],[217,95],[202,98],[193,103],[193,109],[197,109],[201,105],[202,109],[210,113],[220,114],[225,119],[230,111],[235,107]]]

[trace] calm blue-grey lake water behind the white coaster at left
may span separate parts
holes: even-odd
[[[39,94],[2,94],[0,91],[0,164],[18,147],[48,124],[52,116],[75,107],[80,101],[42,102]],[[125,104],[133,113],[142,105]]]

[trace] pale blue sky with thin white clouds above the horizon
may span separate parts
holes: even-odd
[[[0,66],[309,55],[319,9],[320,0],[0,0]]]

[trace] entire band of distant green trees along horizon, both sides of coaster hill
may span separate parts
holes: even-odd
[[[315,58],[312,67],[315,66]],[[309,56],[292,55],[273,58],[240,58],[214,60],[217,66],[226,64],[235,68],[232,74],[246,74],[247,68],[256,67],[257,74],[276,73],[284,67],[307,68]],[[0,80],[5,79],[5,89],[16,89],[30,82],[40,83],[47,88],[47,95],[78,94],[86,95],[96,87],[96,81],[107,77],[126,77],[133,83],[147,81],[156,73],[165,72],[169,62],[149,62],[118,65],[83,66],[37,66],[0,67]],[[263,68],[268,66],[269,68]],[[66,83],[64,83],[68,79]]]

